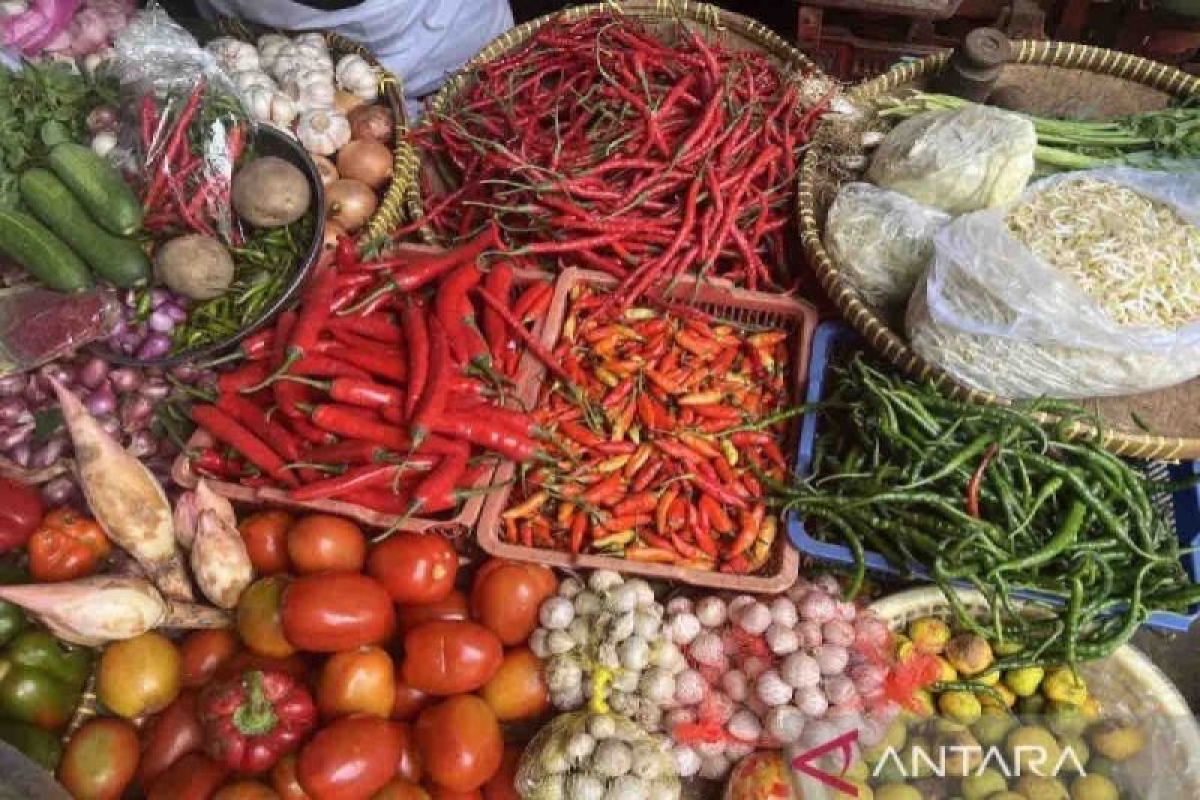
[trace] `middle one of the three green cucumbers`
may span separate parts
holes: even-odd
[[[29,169],[20,176],[20,199],[77,252],[100,277],[128,288],[150,277],[150,259],[132,239],[108,233],[88,216],[66,185],[48,169]]]

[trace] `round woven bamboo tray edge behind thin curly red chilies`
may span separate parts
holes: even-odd
[[[719,8],[707,2],[691,0],[626,0],[612,2],[593,2],[566,8],[565,11],[532,19],[510,29],[479,54],[468,61],[442,86],[428,103],[427,119],[452,115],[458,96],[475,80],[475,70],[499,56],[524,44],[539,28],[553,19],[575,22],[596,13],[624,13],[649,23],[682,23],[700,32],[706,38],[720,42],[726,47],[742,50],[766,53],[780,67],[784,74],[820,74],[815,64],[799,50],[780,38],[769,28],[749,17]],[[437,169],[427,169],[426,176],[439,180]],[[438,242],[439,237],[427,225],[422,228],[422,237]]]

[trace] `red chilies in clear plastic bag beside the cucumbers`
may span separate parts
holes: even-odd
[[[144,157],[146,230],[176,229],[212,236],[226,233],[240,245],[229,191],[238,160],[246,149],[246,124],[230,102],[206,96],[198,80],[184,98],[162,104],[145,94],[138,109]],[[221,124],[215,125],[215,119]],[[220,148],[209,137],[221,134]]]

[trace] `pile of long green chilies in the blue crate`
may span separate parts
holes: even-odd
[[[1200,601],[1154,501],[1180,487],[1068,438],[1082,409],[948,399],[860,355],[833,378],[811,476],[774,489],[816,536],[852,549],[854,590],[866,548],[905,575],[928,572],[962,626],[1014,645],[1003,668],[1102,658],[1151,610]],[[984,594],[990,620],[965,608],[962,584]],[[1013,589],[1048,600],[1031,613]]]

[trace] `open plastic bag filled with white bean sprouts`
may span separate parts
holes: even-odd
[[[1200,163],[1198,163],[1200,166]],[[1200,172],[1056,175],[934,240],[912,345],[1006,397],[1152,391],[1200,374]]]

